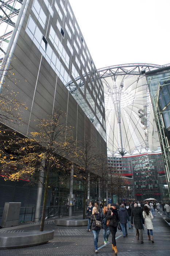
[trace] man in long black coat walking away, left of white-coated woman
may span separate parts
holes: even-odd
[[[140,243],[143,244],[142,223],[144,224],[144,219],[143,219],[142,211],[139,209],[138,204],[136,203],[134,204],[134,208],[131,213],[132,224],[133,224],[133,220],[134,220],[135,229],[136,229],[136,238],[137,240],[139,240],[139,236],[140,236]]]

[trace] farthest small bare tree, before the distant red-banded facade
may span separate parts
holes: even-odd
[[[122,174],[117,172],[117,173],[112,173],[111,171],[111,191],[113,195],[117,195],[118,197],[118,203],[120,203],[120,198],[125,196],[127,189],[128,189],[128,183],[125,181],[123,178]]]

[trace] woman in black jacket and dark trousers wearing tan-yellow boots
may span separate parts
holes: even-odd
[[[111,209],[108,211],[106,219],[110,220],[109,229],[112,233],[112,250],[115,251],[115,253],[117,253],[115,236],[117,231],[117,225],[119,223],[119,216],[116,209],[116,204],[112,204]]]

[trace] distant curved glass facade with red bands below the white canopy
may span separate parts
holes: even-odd
[[[124,177],[131,178],[133,187],[131,190],[134,191],[137,200],[144,200],[148,197],[158,200],[168,198],[165,168],[161,153],[108,157],[108,166],[112,173],[119,172]]]

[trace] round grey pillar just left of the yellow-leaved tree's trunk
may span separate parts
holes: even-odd
[[[43,160],[41,164],[42,166],[45,166],[45,161]],[[39,222],[39,214],[40,214],[42,190],[43,190],[43,180],[44,180],[44,169],[42,166],[39,169],[39,182],[38,182],[38,190],[37,190],[37,196],[36,196],[34,222]]]

